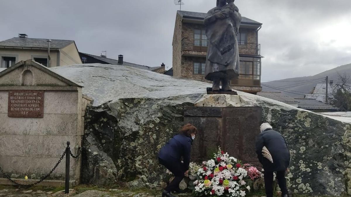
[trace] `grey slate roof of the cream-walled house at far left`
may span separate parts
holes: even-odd
[[[51,39],[50,48],[61,49],[70,45],[73,40]],[[0,42],[2,47],[47,48],[47,39],[41,38],[11,38]]]

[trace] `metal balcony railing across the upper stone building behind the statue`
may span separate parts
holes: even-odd
[[[185,39],[182,41],[181,45],[182,45],[182,50],[194,50],[194,51],[207,52],[208,40]],[[260,55],[261,45],[257,43],[239,42],[239,53]]]

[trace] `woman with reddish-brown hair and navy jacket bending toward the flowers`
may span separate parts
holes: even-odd
[[[188,173],[190,148],[197,131],[197,128],[193,125],[186,124],[180,129],[178,135],[174,136],[161,148],[158,154],[159,162],[175,176],[163,191],[162,197],[173,197],[171,192],[180,191],[179,183],[183,180],[184,175]],[[181,157],[183,157],[183,163],[181,162]]]

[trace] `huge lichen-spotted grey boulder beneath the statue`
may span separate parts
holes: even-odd
[[[237,96],[206,95],[208,83],[131,67],[83,64],[53,70],[85,86],[83,93],[94,98],[85,115],[84,183],[166,182],[170,177],[158,164],[157,153],[183,124],[184,107],[261,106],[263,120],[289,144],[287,179],[293,192],[351,195],[350,118],[239,91]]]

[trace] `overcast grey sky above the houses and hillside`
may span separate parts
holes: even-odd
[[[0,0],[0,40],[75,40],[80,52],[146,66],[172,65],[174,0]],[[216,0],[184,0],[207,12]],[[262,79],[314,75],[351,63],[351,0],[236,0],[259,31]]]

